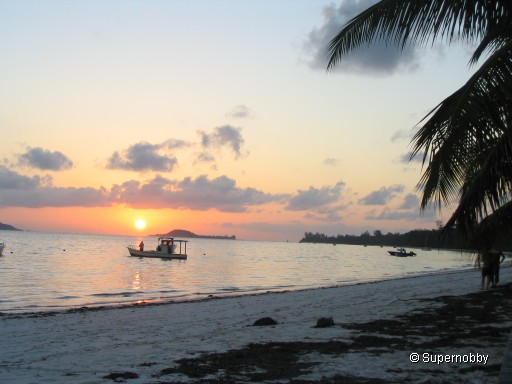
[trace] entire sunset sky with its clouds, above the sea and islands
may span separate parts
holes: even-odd
[[[0,0],[0,222],[246,240],[433,229],[418,123],[457,45],[326,46],[375,1]],[[136,228],[136,220],[144,228]]]

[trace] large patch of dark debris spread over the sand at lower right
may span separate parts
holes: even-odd
[[[343,372],[320,380],[300,380],[311,373],[317,362],[305,361],[303,356],[315,352],[317,356],[343,356],[361,352],[379,356],[394,351],[432,351],[438,348],[482,347],[505,344],[511,332],[512,292],[509,287],[464,296],[442,296],[428,301],[437,305],[411,310],[389,320],[366,323],[336,324],[350,329],[352,336],[346,342],[270,342],[249,344],[224,353],[205,353],[198,357],[180,359],[172,368],[160,370],[154,378],[160,384],[179,384],[175,378],[186,376],[183,383],[248,383],[284,381],[292,384],[387,384],[416,382],[418,374],[436,376],[435,383],[443,381],[443,371],[437,366],[410,365],[408,368],[389,367],[387,372],[396,378],[388,381],[378,377],[357,377]],[[285,325],[279,325],[285,326]],[[479,370],[492,380],[498,377],[500,365],[458,365],[452,367],[458,378]],[[424,372],[423,372],[424,371]],[[177,375],[179,374],[179,375]],[[173,375],[173,381],[166,381]],[[461,380],[463,381],[463,380]],[[423,381],[429,383],[429,380]]]

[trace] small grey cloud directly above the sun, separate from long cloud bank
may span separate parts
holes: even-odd
[[[121,153],[114,152],[107,162],[107,168],[127,171],[171,172],[178,161],[174,156],[160,155],[158,151],[162,148],[176,148],[176,145],[182,145],[181,143],[166,141],[160,145],[145,142],[131,145]]]

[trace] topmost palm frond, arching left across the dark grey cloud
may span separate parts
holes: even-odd
[[[330,41],[327,69],[348,52],[380,40],[402,49],[407,43],[479,41],[510,24],[510,0],[382,0],[354,17]],[[508,24],[507,24],[508,23]],[[509,35],[510,36],[510,35]]]

